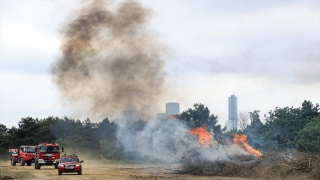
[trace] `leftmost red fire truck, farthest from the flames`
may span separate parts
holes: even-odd
[[[21,166],[27,164],[31,166],[35,158],[36,146],[20,146],[20,148],[9,149],[11,166],[15,166],[16,163],[20,163]]]

